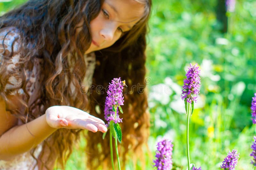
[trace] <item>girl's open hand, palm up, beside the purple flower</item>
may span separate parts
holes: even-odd
[[[52,128],[87,129],[106,132],[103,120],[70,106],[52,106],[46,112],[46,121]]]

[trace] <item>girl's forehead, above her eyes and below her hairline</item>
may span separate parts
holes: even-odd
[[[119,22],[137,22],[144,15],[145,5],[135,0],[105,0],[104,5],[114,12]]]

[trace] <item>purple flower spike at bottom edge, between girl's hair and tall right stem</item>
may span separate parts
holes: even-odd
[[[153,160],[155,163],[154,166],[157,168],[157,170],[172,169],[172,142],[164,139],[158,142],[156,146],[156,160]]]

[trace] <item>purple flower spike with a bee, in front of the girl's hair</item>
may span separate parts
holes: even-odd
[[[108,107],[124,105],[122,81],[119,78],[114,78],[108,87],[107,104]]]

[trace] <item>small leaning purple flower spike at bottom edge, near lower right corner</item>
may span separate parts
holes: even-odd
[[[222,165],[220,166],[220,169],[224,170],[235,170],[235,167],[237,165],[238,156],[237,151],[235,149],[232,150],[232,152],[229,151],[226,158],[224,158],[224,161],[222,162]]]

